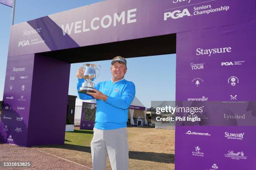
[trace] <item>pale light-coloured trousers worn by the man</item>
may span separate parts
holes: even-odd
[[[127,128],[99,130],[93,128],[91,142],[93,170],[105,170],[107,156],[112,170],[129,169]]]

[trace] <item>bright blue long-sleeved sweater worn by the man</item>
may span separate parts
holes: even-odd
[[[83,79],[78,79],[77,91],[82,86]],[[113,83],[112,80],[99,82],[95,89],[107,95],[106,102],[97,101],[95,128],[100,130],[111,130],[127,127],[128,107],[135,96],[135,85],[125,79]],[[82,100],[94,99],[87,94],[79,93]]]

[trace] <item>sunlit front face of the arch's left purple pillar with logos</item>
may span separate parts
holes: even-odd
[[[33,55],[8,57],[0,142],[26,145],[33,76]]]

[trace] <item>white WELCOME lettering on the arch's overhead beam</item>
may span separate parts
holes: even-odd
[[[137,8],[123,11],[121,13],[114,13],[113,17],[110,15],[105,15],[102,18],[95,17],[90,21],[90,26],[87,26],[87,20],[80,20],[73,23],[68,23],[66,25],[62,24],[61,28],[63,35],[70,35],[71,33],[77,34],[81,32],[88,32],[90,30],[98,30],[99,28],[109,28],[111,25],[114,27],[117,23],[122,23],[122,25],[136,23],[136,11]],[[126,21],[126,22],[125,22]]]

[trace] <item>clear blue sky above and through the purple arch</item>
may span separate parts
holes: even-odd
[[[102,0],[16,0],[14,24],[100,1]],[[0,4],[0,100],[3,99],[11,13],[11,7]],[[91,63],[102,66],[95,83],[111,79],[110,60]],[[150,107],[151,100],[175,100],[176,55],[128,58],[127,64],[125,79],[134,82],[136,96],[146,107]],[[80,65],[81,63],[71,65],[69,95],[77,95],[75,73]]]

